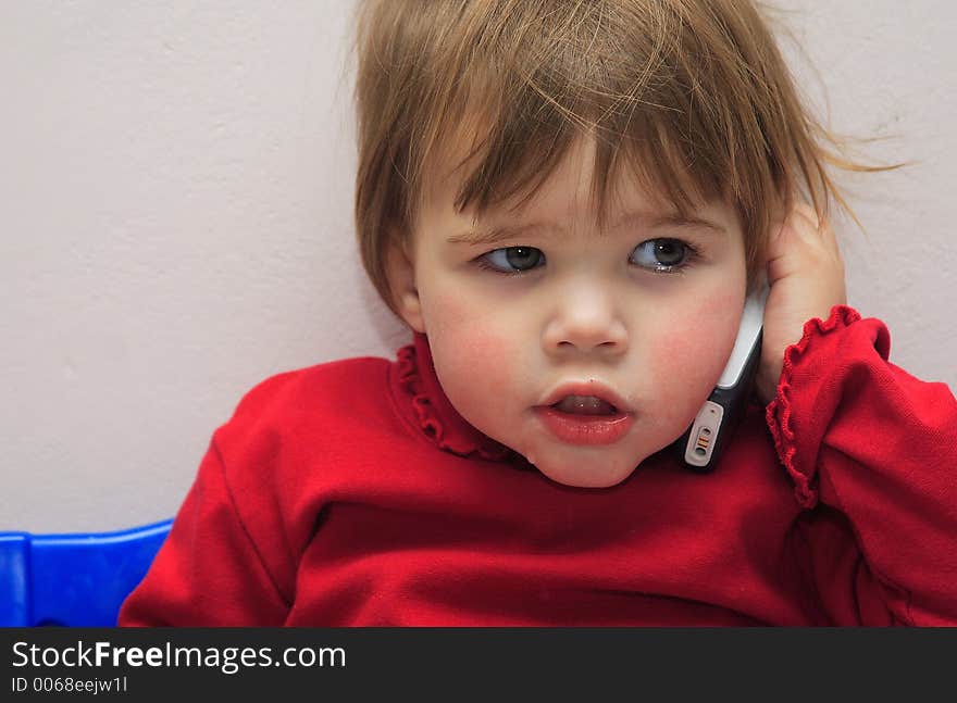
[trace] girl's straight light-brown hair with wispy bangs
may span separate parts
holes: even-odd
[[[721,199],[737,213],[750,285],[798,189],[820,215],[835,199],[854,217],[826,165],[895,167],[840,153],[751,0],[362,0],[356,50],[356,230],[396,314],[386,252],[413,231],[446,145],[471,143],[460,164],[477,166],[455,204],[482,213],[532,198],[589,134],[599,223],[621,168],[680,214]]]

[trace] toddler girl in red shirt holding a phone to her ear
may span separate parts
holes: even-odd
[[[957,402],[847,306],[825,166],[867,167],[753,3],[358,21],[357,233],[411,343],[249,391],[120,624],[957,624]]]

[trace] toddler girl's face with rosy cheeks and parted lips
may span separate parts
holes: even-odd
[[[525,208],[476,222],[455,211],[458,181],[435,179],[398,256],[405,277],[391,280],[462,417],[560,484],[607,487],[691,425],[734,346],[746,268],[723,204],[700,208],[699,223],[669,221],[627,184],[599,231],[593,163],[594,145],[580,141]],[[610,400],[619,412],[599,424],[614,429],[589,432],[581,415],[573,436],[554,429],[546,409],[567,384]]]

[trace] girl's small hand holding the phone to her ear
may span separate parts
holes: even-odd
[[[778,391],[784,350],[800,341],[809,319],[828,319],[834,305],[847,304],[844,260],[826,221],[797,201],[768,242],[768,285],[758,397],[767,405]]]

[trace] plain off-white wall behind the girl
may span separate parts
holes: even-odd
[[[957,5],[787,0],[808,95],[898,135],[848,291],[957,389]],[[171,516],[266,376],[408,340],[353,246],[351,2],[0,5],[0,530]]]

